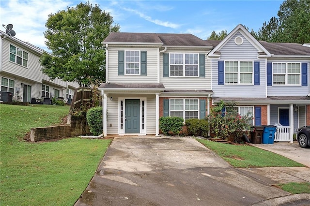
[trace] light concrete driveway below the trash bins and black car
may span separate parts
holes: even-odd
[[[310,167],[310,148],[299,147],[297,142],[275,142],[274,144],[251,144],[268,150]]]

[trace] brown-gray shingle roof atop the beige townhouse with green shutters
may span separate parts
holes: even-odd
[[[192,34],[111,32],[103,43],[150,43],[164,46],[212,46]]]

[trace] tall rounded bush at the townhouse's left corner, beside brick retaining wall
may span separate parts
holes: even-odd
[[[102,107],[92,107],[86,114],[86,119],[90,127],[90,131],[94,135],[102,134]]]

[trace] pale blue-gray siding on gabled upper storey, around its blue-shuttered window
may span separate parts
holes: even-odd
[[[234,38],[243,37],[243,44],[236,45]],[[222,48],[220,48],[220,59],[210,59],[212,61],[212,90],[213,97],[265,97],[265,59],[258,59],[258,50],[240,33],[237,32]],[[218,85],[217,62],[225,60],[246,60],[260,62],[260,85]],[[253,65],[254,66],[254,65]],[[254,70],[253,70],[254,73]],[[224,74],[225,75],[225,74]],[[254,78],[253,78],[254,84]]]

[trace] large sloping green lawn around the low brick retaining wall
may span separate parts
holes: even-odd
[[[110,140],[22,140],[30,128],[58,124],[68,111],[68,106],[0,104],[0,205],[73,205],[78,200]]]

